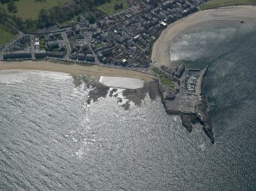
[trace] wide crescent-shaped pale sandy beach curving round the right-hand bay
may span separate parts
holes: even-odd
[[[256,7],[251,5],[216,8],[206,11],[199,11],[170,24],[154,43],[151,59],[154,65],[174,66],[170,63],[170,42],[179,33],[195,24],[206,21],[256,19]]]

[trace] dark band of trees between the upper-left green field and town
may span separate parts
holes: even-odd
[[[87,19],[90,24],[93,24],[96,22],[96,12],[95,10],[96,6],[102,5],[105,2],[110,2],[111,0],[81,0],[81,3],[79,5],[76,4],[76,7],[73,9],[67,9],[67,8],[61,8],[61,7],[53,7],[48,10],[41,9],[41,11],[38,14],[37,20],[26,19],[23,21],[21,18],[16,16],[15,14],[11,15],[8,14],[6,11],[10,13],[16,13],[17,7],[15,5],[15,1],[19,0],[0,0],[2,4],[7,3],[7,10],[0,7],[0,18],[2,18],[5,21],[10,22],[11,24],[15,25],[15,27],[18,27],[20,30],[23,31],[33,31],[37,28],[44,28],[44,27],[50,27],[56,24],[56,22],[64,22],[64,21],[70,21],[73,19],[74,16],[79,15],[80,13],[87,10]],[[37,2],[44,2],[46,0],[34,0]],[[118,7],[119,8],[119,7]]]

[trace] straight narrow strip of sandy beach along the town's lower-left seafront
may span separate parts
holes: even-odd
[[[76,64],[58,64],[48,61],[23,61],[23,62],[0,62],[0,70],[11,69],[24,69],[24,70],[41,70],[52,72],[63,72],[70,75],[92,75],[100,77],[113,76],[113,77],[126,77],[126,78],[138,78],[145,81],[152,81],[155,79],[154,75],[148,75],[141,72],[135,72],[131,70],[119,69],[119,68],[107,68],[99,65],[83,66]]]

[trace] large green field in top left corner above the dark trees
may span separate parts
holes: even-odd
[[[53,8],[54,6],[64,5],[66,2],[73,2],[73,0],[46,0],[45,2],[36,2],[35,0],[19,0],[18,2],[15,2],[18,9],[18,12],[15,13],[15,15],[23,20],[26,20],[27,18],[36,20],[37,15],[42,8],[49,9]],[[0,4],[0,6],[5,8],[8,14],[13,14],[7,11],[7,4]]]

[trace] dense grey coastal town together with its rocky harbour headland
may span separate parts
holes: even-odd
[[[151,60],[151,49],[160,33],[171,23],[199,11],[203,0],[131,0],[130,7],[105,15],[90,24],[86,11],[76,24],[56,25],[35,33],[18,30],[17,38],[0,48],[0,60],[41,60],[73,62],[134,70],[159,79],[159,91],[170,115],[180,115],[186,129],[203,124],[212,143],[212,124],[206,115],[207,103],[201,95],[203,70],[180,65],[170,68]],[[75,2],[79,4],[79,1]],[[70,4],[65,7],[73,7]],[[118,9],[118,8],[117,8]],[[4,21],[8,24],[7,21]],[[160,67],[159,67],[160,65]]]

